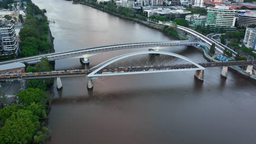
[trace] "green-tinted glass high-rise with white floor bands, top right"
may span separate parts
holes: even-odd
[[[236,31],[235,10],[225,5],[216,5],[207,9],[206,27],[210,26],[214,32]]]

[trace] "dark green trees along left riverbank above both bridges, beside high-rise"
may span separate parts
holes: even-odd
[[[21,57],[38,55],[39,53],[50,52],[48,43],[48,25],[47,17],[37,5],[27,0],[26,21],[23,23],[24,28],[20,29],[21,39]],[[22,19],[22,16],[19,16]]]

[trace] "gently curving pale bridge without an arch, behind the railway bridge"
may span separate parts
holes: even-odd
[[[84,49],[54,52],[45,55],[37,55],[32,57],[24,57],[13,59],[10,61],[3,61],[0,64],[8,64],[14,62],[27,62],[28,64],[36,64],[40,62],[42,57],[47,57],[49,61],[55,61],[58,59],[65,58],[80,58],[84,63],[88,63],[88,57],[97,55],[101,52],[124,50],[124,49],[137,49],[137,48],[148,48],[155,47],[156,49],[162,49],[168,46],[196,46],[196,45],[207,45],[202,42],[193,42],[189,40],[173,40],[173,41],[158,41],[158,42],[147,42],[147,43],[127,43],[127,44],[114,44],[114,45],[103,45],[95,47],[86,47]]]

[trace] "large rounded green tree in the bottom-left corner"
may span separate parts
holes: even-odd
[[[31,111],[14,112],[0,129],[0,143],[30,143],[38,126],[38,117]]]

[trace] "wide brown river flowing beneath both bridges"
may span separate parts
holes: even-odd
[[[166,35],[65,0],[33,0],[46,9],[55,51],[140,41],[171,40]],[[170,47],[205,62],[194,47]],[[90,57],[90,67],[123,50]],[[79,59],[56,61],[55,69],[81,69]],[[221,68],[207,68],[205,81],[194,71],[106,76],[87,91],[85,77],[61,78],[49,115],[50,143],[256,143],[256,90],[252,82]]]

